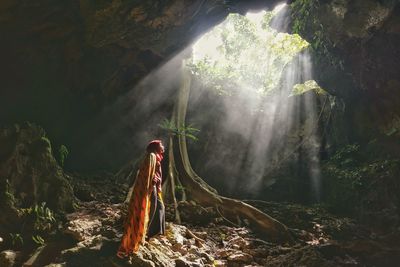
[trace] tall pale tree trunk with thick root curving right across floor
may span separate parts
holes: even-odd
[[[185,124],[190,84],[190,73],[183,66],[182,84],[179,88],[172,115],[172,121],[175,125]],[[293,240],[287,227],[279,221],[242,201],[218,195],[216,190],[205,183],[191,167],[187,152],[186,136],[183,134],[175,136],[170,135],[168,174],[169,183],[165,185],[165,187],[169,187],[170,190],[165,190],[165,193],[169,193],[168,197],[172,199],[176,212],[178,212],[178,203],[174,195],[174,186],[176,184],[182,184],[188,199],[202,206],[214,207],[225,218],[232,221],[236,221],[238,218],[246,219],[250,227],[264,234],[271,241],[291,242]],[[176,219],[179,220],[179,213],[177,213]]]

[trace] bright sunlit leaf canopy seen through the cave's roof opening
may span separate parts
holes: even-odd
[[[230,14],[193,46],[192,73],[221,95],[273,92],[285,66],[309,46],[299,35],[269,26],[282,7],[246,16]]]

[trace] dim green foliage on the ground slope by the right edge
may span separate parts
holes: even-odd
[[[367,153],[368,147],[350,144],[338,149],[323,162],[326,201],[335,210],[352,213],[362,205],[362,200],[375,190],[379,183],[396,177],[400,160],[378,157]],[[351,205],[349,205],[351,203]]]

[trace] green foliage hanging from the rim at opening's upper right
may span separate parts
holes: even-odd
[[[318,59],[326,58],[336,68],[343,69],[343,61],[330,51],[335,45],[325,34],[322,23],[318,20],[319,0],[297,0],[292,7],[292,31],[297,34],[312,33],[310,45],[318,55]]]

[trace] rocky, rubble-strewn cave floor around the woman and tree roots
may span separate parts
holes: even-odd
[[[398,266],[400,262],[400,230],[385,235],[321,207],[263,201],[252,204],[285,223],[294,244],[270,243],[212,210],[184,202],[182,225],[171,222],[167,206],[166,235],[150,239],[137,255],[122,260],[115,252],[127,185],[104,174],[73,181],[81,199],[76,210],[65,216],[58,234],[35,253],[17,258],[15,266]]]

